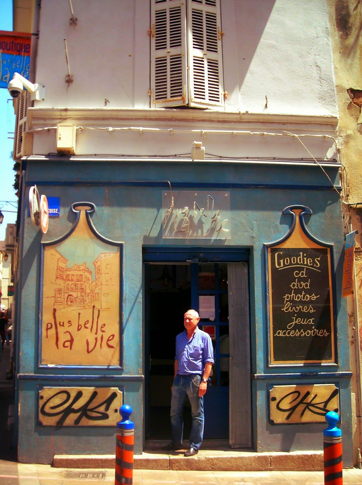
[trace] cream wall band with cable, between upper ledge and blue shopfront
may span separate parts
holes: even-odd
[[[112,116],[112,113],[109,113]],[[54,123],[53,121],[51,123]],[[152,126],[146,120],[120,122],[119,120],[107,120],[106,122],[94,122],[86,119],[75,121],[76,131],[76,155],[123,155],[148,157],[158,155],[162,157],[180,156],[191,159],[191,148],[195,140],[201,141],[205,147],[206,158],[271,158],[276,159],[336,159],[335,144],[331,138],[335,137],[332,127],[314,125],[282,125],[276,121],[274,126],[270,124],[250,123],[215,123],[211,125],[199,122],[191,132],[190,124],[166,120],[163,123],[155,122]],[[106,124],[105,124],[106,123]],[[136,125],[137,128],[131,127]],[[56,133],[54,129],[45,129],[48,124],[43,121],[36,122],[33,128],[43,130],[33,134],[33,153],[47,155],[56,153]],[[79,127],[82,126],[82,129]],[[109,127],[113,130],[109,131]],[[138,128],[143,128],[139,130]],[[152,132],[147,132],[152,128]],[[157,131],[155,129],[163,129]],[[124,130],[123,130],[124,129]],[[127,131],[126,131],[127,129]],[[172,129],[173,135],[167,130]],[[208,133],[207,130],[219,130],[219,133]],[[185,131],[186,130],[186,131]],[[201,130],[205,133],[202,135]],[[317,130],[317,131],[316,131]],[[226,131],[222,133],[222,131]],[[233,134],[233,131],[236,133]],[[238,134],[241,131],[244,133]],[[249,134],[259,133],[259,134]],[[271,135],[263,136],[263,132]],[[277,136],[274,136],[276,133]],[[312,136],[297,137],[288,136],[287,133],[307,134]],[[313,137],[317,134],[318,136]],[[285,135],[285,136],[283,136]]]

